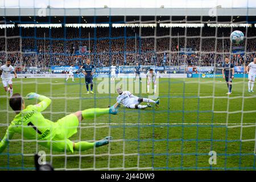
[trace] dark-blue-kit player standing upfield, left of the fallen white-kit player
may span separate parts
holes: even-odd
[[[94,74],[94,65],[90,64],[90,59],[86,60],[86,64],[82,66],[82,73],[85,75],[85,84],[87,89],[87,94],[93,93],[93,74]],[[90,84],[90,92],[89,92]]]

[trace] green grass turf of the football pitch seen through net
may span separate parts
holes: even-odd
[[[84,80],[79,78],[76,82],[69,79],[67,83],[61,78],[15,79],[14,93],[26,96],[37,92],[51,97],[52,104],[44,116],[55,122],[77,110],[115,103],[117,94],[98,93],[100,81],[94,79],[94,82],[95,94],[87,95]],[[236,78],[230,97],[221,78],[160,78],[158,86],[158,108],[120,107],[118,115],[83,121],[71,138],[93,141],[112,135],[114,141],[108,146],[65,155],[36,142],[22,142],[20,135],[15,134],[9,149],[0,154],[0,169],[34,169],[33,154],[40,150],[46,152],[47,161],[56,169],[255,169],[255,140],[241,142],[241,127],[224,125],[254,123],[243,127],[242,139],[255,139],[256,94],[247,92],[247,80]],[[148,94],[136,95],[147,97]],[[3,89],[0,96],[0,137],[3,138],[7,126],[1,124],[10,123],[15,114]],[[35,101],[26,100],[26,105],[30,104]],[[217,152],[217,164],[210,166],[208,153],[212,150]]]

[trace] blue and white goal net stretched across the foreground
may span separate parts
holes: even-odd
[[[55,170],[255,169],[256,94],[247,91],[245,71],[255,57],[256,19],[248,8],[242,15],[225,15],[221,7],[194,9],[196,14],[188,9],[187,15],[165,14],[166,7],[125,9],[121,15],[107,6],[65,7],[11,12],[1,6],[0,64],[11,60],[18,73],[14,93],[51,98],[42,114],[52,122],[114,105],[119,86],[139,98],[159,98],[160,104],[121,105],[117,115],[82,120],[72,142],[113,137],[108,145],[85,151],[58,152],[15,134],[0,153],[1,170],[34,170],[35,154]],[[230,42],[235,30],[245,35],[241,44]],[[225,58],[234,65],[230,95],[222,77]],[[89,94],[81,68],[87,59],[95,67]],[[71,65],[74,81],[68,78]],[[156,77],[148,87],[150,69]],[[1,89],[1,139],[15,117],[9,98]]]

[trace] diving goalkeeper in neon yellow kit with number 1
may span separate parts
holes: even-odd
[[[5,150],[8,141],[15,133],[23,134],[24,138],[37,140],[42,146],[61,152],[84,151],[94,146],[104,146],[112,139],[112,137],[105,137],[98,142],[74,143],[68,138],[77,133],[77,127],[82,119],[94,118],[102,114],[117,114],[118,103],[107,109],[93,108],[77,111],[57,122],[52,122],[41,114],[51,104],[51,99],[37,93],[29,93],[27,99],[38,99],[40,102],[26,107],[20,94],[16,93],[10,98],[9,104],[16,115],[0,142],[0,153]]]

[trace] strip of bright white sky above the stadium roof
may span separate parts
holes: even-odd
[[[0,8],[246,8],[255,0],[1,0]]]

